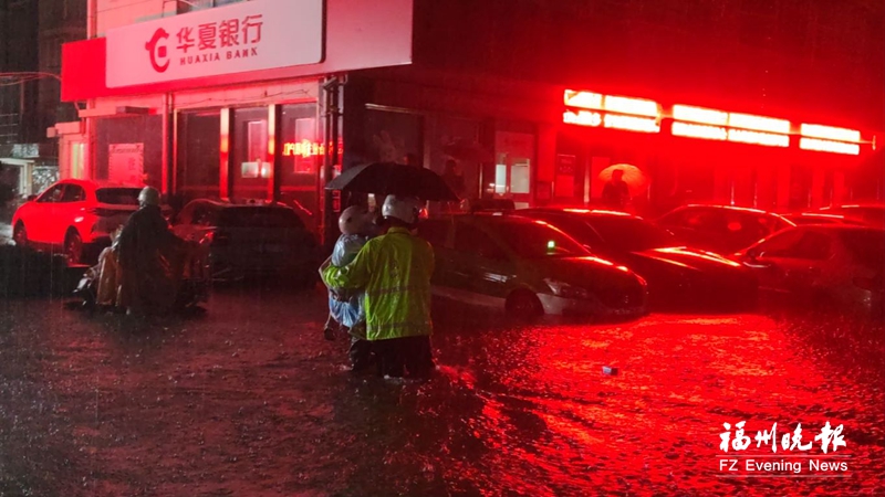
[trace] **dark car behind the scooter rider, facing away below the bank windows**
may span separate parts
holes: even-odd
[[[294,210],[280,204],[194,200],[173,231],[190,241],[208,240],[212,279],[288,277],[313,281],[319,245]]]

